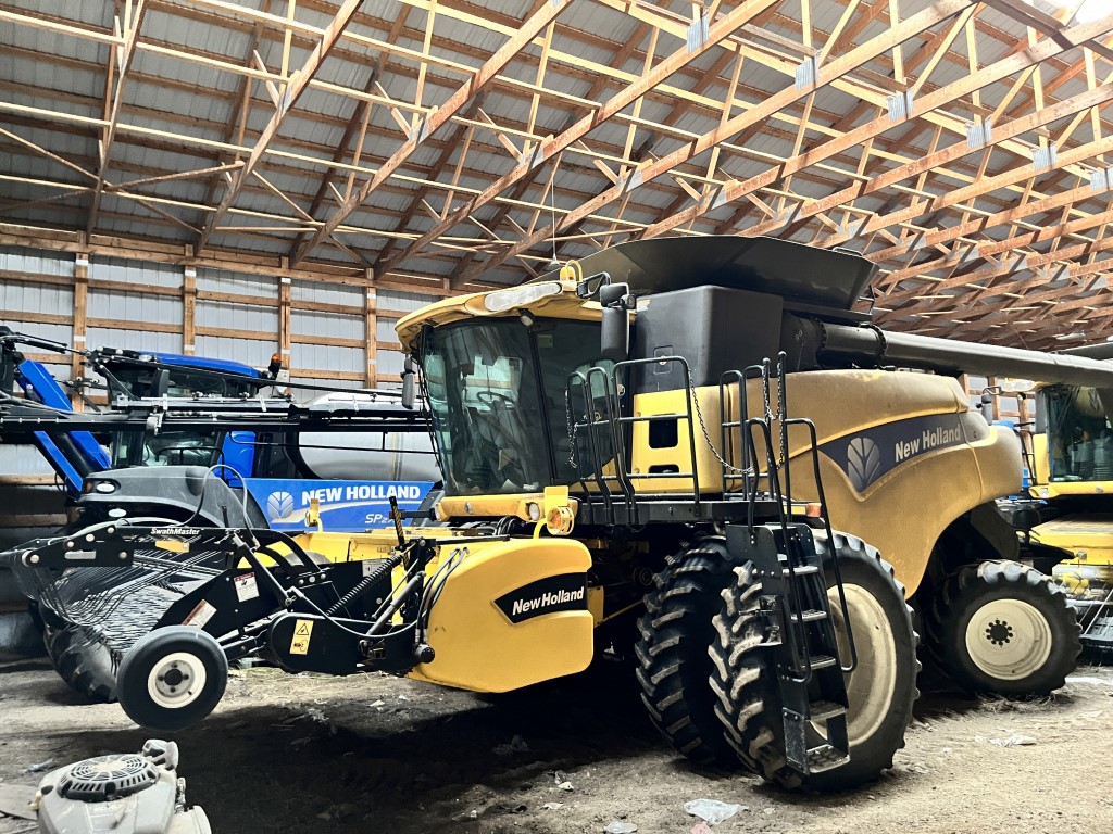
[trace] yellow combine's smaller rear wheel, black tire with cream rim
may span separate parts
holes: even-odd
[[[1082,653],[1077,614],[1050,577],[1018,562],[967,565],[937,597],[939,654],[968,692],[1050,695]]]

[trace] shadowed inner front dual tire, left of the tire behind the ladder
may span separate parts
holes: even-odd
[[[638,622],[641,639],[634,647],[641,699],[653,726],[692,762],[721,767],[738,767],[738,759],[715,716],[708,647],[730,567],[727,546],[718,537],[670,556],[646,597],[646,613]]]

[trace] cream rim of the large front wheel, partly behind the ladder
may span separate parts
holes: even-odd
[[[850,614],[854,647],[858,665],[846,676],[846,693],[850,704],[847,709],[847,736],[850,746],[871,737],[885,724],[893,705],[897,683],[897,658],[893,652],[896,636],[885,608],[860,585],[844,584],[846,607]],[[839,605],[838,590],[828,592],[831,619],[838,639],[839,655],[850,657],[846,639],[846,623]]]

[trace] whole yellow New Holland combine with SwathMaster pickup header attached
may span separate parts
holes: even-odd
[[[954,376],[1113,379],[1087,358],[881,332],[853,311],[871,274],[786,241],[656,239],[449,298],[398,322],[440,526],[108,523],[10,558],[48,598],[60,567],[142,562],[173,582],[224,554],[120,665],[121,705],[152,728],[204,718],[248,655],[506,692],[615,652],[696,762],[848,787],[904,742],[908,600],[971,688],[1045,693],[1078,653],[993,504],[1020,486],[1018,441]]]

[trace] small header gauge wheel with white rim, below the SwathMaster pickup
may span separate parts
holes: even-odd
[[[166,626],[124,656],[116,688],[136,724],[176,731],[211,713],[227,683],[228,658],[215,637],[191,626]]]

